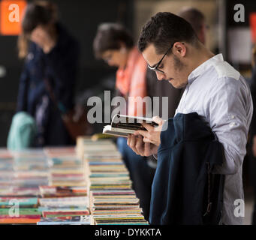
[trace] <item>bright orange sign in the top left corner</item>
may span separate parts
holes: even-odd
[[[25,0],[0,0],[0,34],[20,34],[26,4]]]

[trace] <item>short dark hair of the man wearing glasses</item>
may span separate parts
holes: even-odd
[[[190,23],[173,13],[161,12],[143,26],[138,48],[143,52],[153,43],[156,53],[164,54],[171,44],[181,41],[197,46],[198,38]]]

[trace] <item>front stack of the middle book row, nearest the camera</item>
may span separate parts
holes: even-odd
[[[89,199],[86,187],[41,186],[38,225],[89,225]]]

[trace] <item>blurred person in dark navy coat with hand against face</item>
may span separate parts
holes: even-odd
[[[35,146],[70,145],[62,114],[73,107],[79,46],[58,22],[56,5],[29,3],[18,45],[26,58],[20,77],[17,111],[35,118]]]

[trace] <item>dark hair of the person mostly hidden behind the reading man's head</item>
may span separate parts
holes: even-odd
[[[199,32],[205,21],[205,17],[200,10],[194,7],[186,7],[178,13],[179,17],[184,18],[191,24],[194,31]]]

